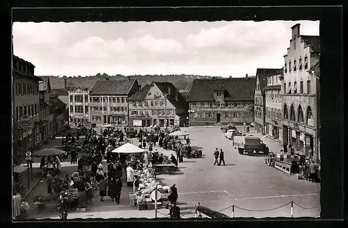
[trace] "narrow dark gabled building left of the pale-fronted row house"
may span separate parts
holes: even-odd
[[[256,70],[254,94],[255,130],[261,134],[266,134],[266,100],[264,87],[267,86],[267,78],[279,71],[282,71],[282,69],[258,68]]]

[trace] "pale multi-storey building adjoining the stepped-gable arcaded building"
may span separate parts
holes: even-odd
[[[281,104],[281,73],[267,77],[267,87],[264,88],[266,99],[266,131],[265,134],[283,142],[282,104]]]

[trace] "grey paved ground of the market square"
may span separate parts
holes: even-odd
[[[243,127],[238,127],[243,131]],[[269,146],[270,151],[278,152],[281,144],[274,139],[261,137],[253,132]],[[290,202],[294,202],[294,217],[317,217],[319,216],[319,188],[320,184],[296,179],[276,168],[264,164],[264,155],[239,155],[232,147],[232,141],[226,139],[220,127],[191,127],[182,128],[189,132],[191,146],[201,148],[203,157],[197,159],[185,159],[180,163],[177,173],[173,175],[157,175],[159,182],[171,186],[176,184],[179,193],[179,207],[184,218],[194,217],[194,205],[209,207],[216,211],[226,209],[235,205],[235,217],[290,217]],[[137,139],[132,139],[137,145]],[[164,150],[155,147],[159,153],[164,155],[174,154],[173,150]],[[214,166],[213,153],[215,148],[223,149],[225,152],[226,166]],[[71,175],[75,167],[62,169],[63,174]],[[104,166],[104,172],[106,166]],[[41,189],[41,190],[40,190]],[[31,193],[35,195],[38,191],[45,193],[46,184],[41,182]],[[106,198],[100,202],[99,193],[95,192],[93,203],[87,205],[86,212],[70,212],[69,218],[154,218],[155,210],[138,211],[136,207],[129,206],[128,194],[132,188],[125,184],[123,188],[120,205]],[[28,202],[28,201],[27,201]],[[31,207],[32,202],[29,202]],[[287,204],[287,205],[285,205]],[[284,207],[281,207],[285,205]],[[299,207],[300,206],[300,207]],[[275,209],[280,207],[279,209]],[[312,209],[302,209],[312,208]],[[314,207],[314,208],[313,208]],[[246,209],[246,210],[245,210]],[[272,210],[274,209],[274,210]],[[48,205],[40,213],[30,213],[30,218],[56,218],[58,212],[54,206]],[[168,214],[168,210],[160,209],[160,213]],[[232,217],[232,208],[221,211]],[[159,214],[160,216],[164,216]],[[166,216],[164,216],[166,217]]]

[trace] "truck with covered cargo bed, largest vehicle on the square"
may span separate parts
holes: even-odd
[[[253,155],[253,152],[263,152],[268,155],[269,148],[259,137],[236,136],[233,138],[233,146],[238,150],[240,155],[247,152],[248,155]]]

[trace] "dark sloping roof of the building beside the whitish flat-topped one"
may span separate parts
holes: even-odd
[[[90,95],[128,95],[136,80],[100,80],[95,82]]]

